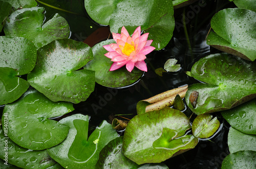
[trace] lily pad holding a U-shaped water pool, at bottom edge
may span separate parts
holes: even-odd
[[[88,138],[89,117],[81,114],[69,116],[59,122],[70,127],[69,134],[61,144],[47,151],[65,168],[95,168],[102,148],[118,137],[111,124],[103,121]]]

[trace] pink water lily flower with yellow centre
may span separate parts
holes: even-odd
[[[132,37],[122,27],[121,34],[113,33],[113,39],[116,43],[104,45],[103,47],[109,52],[104,54],[114,63],[110,67],[110,71],[121,68],[126,65],[126,69],[132,72],[134,66],[142,71],[147,71],[145,59],[146,54],[152,52],[155,47],[150,46],[153,40],[147,40],[148,33],[140,35],[140,26],[134,31]]]

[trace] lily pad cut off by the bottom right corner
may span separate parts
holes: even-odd
[[[255,168],[256,151],[239,151],[229,154],[222,162],[221,169]]]

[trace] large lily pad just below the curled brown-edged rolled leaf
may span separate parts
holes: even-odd
[[[184,140],[178,138],[190,127],[189,120],[181,111],[169,107],[137,115],[126,127],[123,153],[137,164],[164,161],[197,145],[198,138],[192,138],[194,136]],[[173,130],[175,137],[166,138]]]

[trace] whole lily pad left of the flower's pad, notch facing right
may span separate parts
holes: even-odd
[[[85,43],[55,40],[38,49],[37,65],[28,74],[28,81],[52,101],[85,101],[94,91],[95,72],[76,70],[92,58],[92,50]]]

